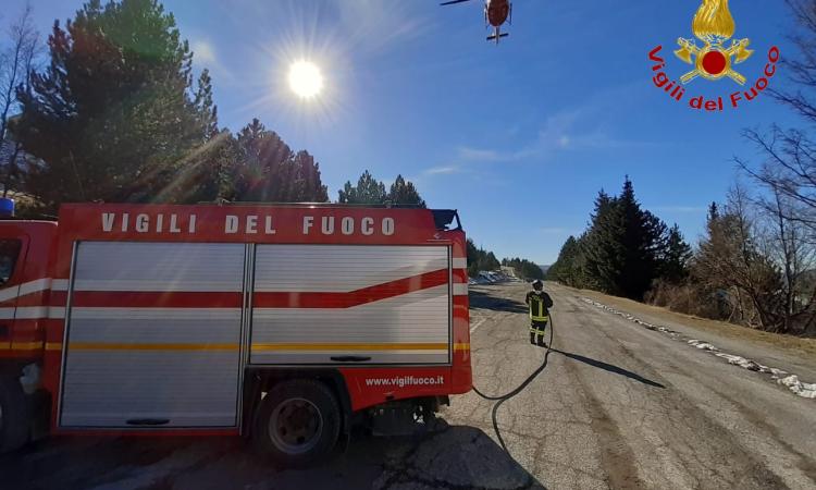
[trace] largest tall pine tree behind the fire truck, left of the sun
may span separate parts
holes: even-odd
[[[174,200],[169,188],[218,122],[209,74],[194,90],[173,15],[156,0],[90,0],[65,29],[54,23],[48,46],[49,66],[17,94],[15,139],[44,162],[27,191],[50,210]]]

